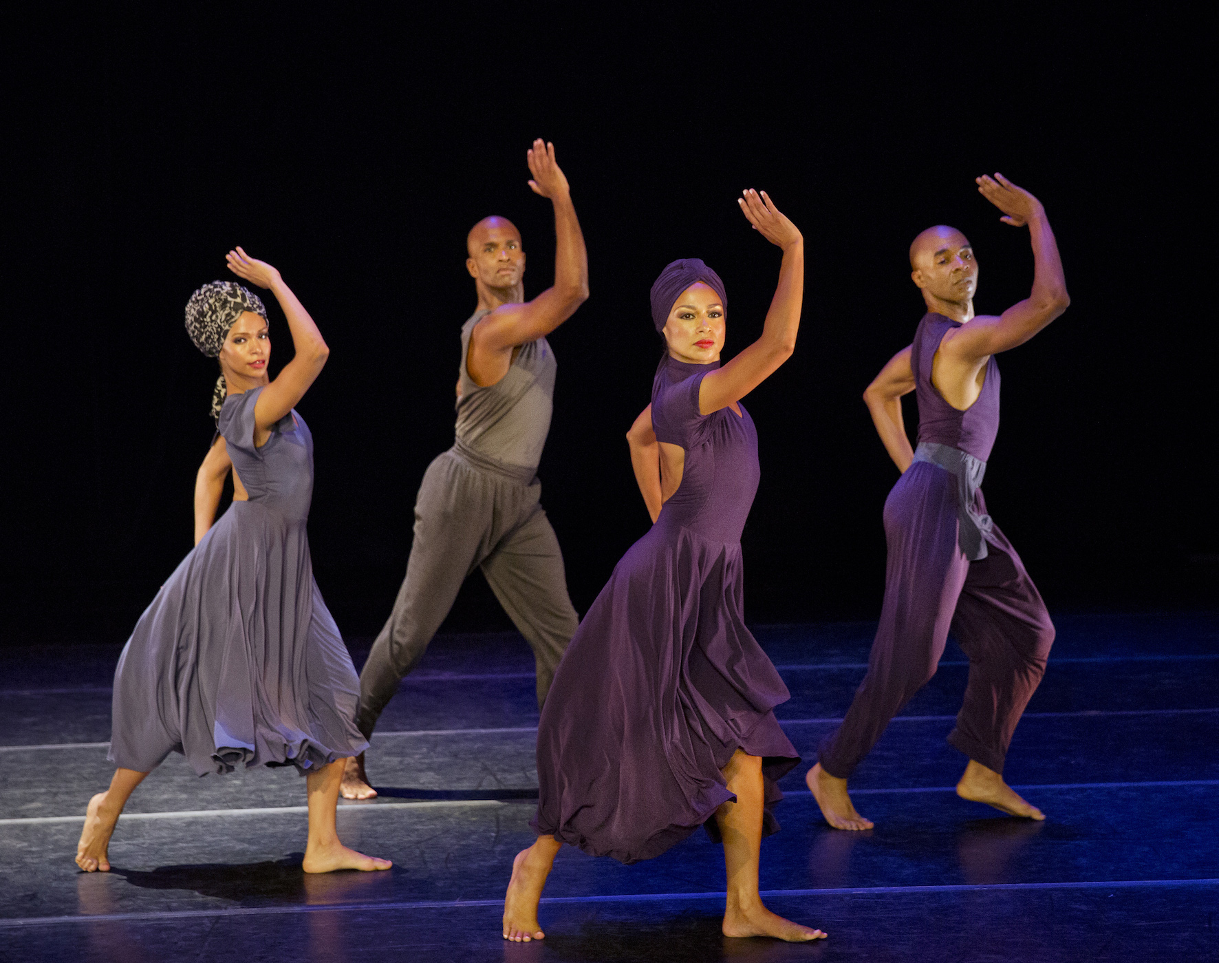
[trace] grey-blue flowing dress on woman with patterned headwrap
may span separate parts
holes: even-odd
[[[108,758],[126,769],[180,752],[199,775],[313,772],[368,746],[360,681],[310,561],[313,436],[293,411],[255,447],[261,391],[229,395],[219,418],[250,500],[182,561],[118,659]]]

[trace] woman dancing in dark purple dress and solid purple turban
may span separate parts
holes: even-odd
[[[825,935],[758,895],[762,835],[778,829],[774,783],[800,759],[773,712],[787,689],[741,616],[740,538],[758,461],[737,402],[791,356],[805,247],[766,194],[747,190],[740,205],[783,249],[779,286],[762,336],[719,367],[727,297],[716,272],[674,261],[652,285],[667,351],[629,438],[656,524],[580,623],[542,708],[538,841],[512,865],[506,940],[545,935],[538,902],[562,844],[634,863],[700,825],[724,845],[725,936]]]

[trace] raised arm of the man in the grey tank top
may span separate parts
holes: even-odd
[[[555,145],[535,140],[525,160],[534,194],[555,207],[555,285],[525,304],[496,307],[474,327],[472,351],[507,354],[550,334],[589,297],[589,255],[572,205],[567,177],[555,161]]]

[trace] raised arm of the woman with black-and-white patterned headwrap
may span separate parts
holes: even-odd
[[[325,367],[330,349],[322,340],[313,318],[296,295],[284,284],[284,279],[266,261],[250,257],[238,247],[228,252],[229,271],[260,288],[268,288],[279,301],[288,318],[288,330],[293,335],[293,360],[284,364],[275,380],[262,389],[254,406],[256,447],[266,444],[271,436],[271,427],[293,410],[308,390],[313,380]]]

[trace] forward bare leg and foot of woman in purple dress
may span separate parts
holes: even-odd
[[[736,750],[722,769],[728,791],[736,802],[716,811],[716,823],[724,837],[724,868],[728,872],[728,902],[724,908],[725,936],[773,936],[787,942],[824,939],[820,930],[775,915],[758,895],[758,861],[762,855],[762,759]]]

